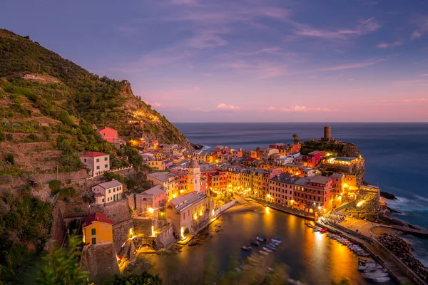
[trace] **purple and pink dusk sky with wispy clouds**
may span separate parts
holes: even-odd
[[[428,122],[428,1],[4,0],[172,122]]]

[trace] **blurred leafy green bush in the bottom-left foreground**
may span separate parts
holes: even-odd
[[[79,264],[81,252],[78,250],[80,240],[76,236],[68,238],[68,251],[63,248],[54,249],[44,259],[46,265],[39,271],[37,284],[51,285],[86,285],[92,284],[88,280],[88,271],[83,271]]]

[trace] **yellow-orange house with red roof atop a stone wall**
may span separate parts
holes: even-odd
[[[103,244],[113,242],[113,221],[105,214],[93,213],[85,218],[83,224],[84,244]]]

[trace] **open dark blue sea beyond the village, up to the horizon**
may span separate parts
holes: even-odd
[[[322,138],[330,125],[332,138],[355,143],[366,160],[365,180],[397,197],[389,207],[394,217],[428,227],[428,123],[174,123],[190,142],[255,149],[275,142]],[[428,239],[403,235],[414,256],[428,266]]]

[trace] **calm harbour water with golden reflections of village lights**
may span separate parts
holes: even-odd
[[[213,237],[201,241],[201,245],[183,247],[178,254],[152,255],[146,259],[152,265],[150,272],[160,274],[165,284],[203,284],[204,276],[205,280],[207,276],[214,278],[246,260],[250,252],[240,249],[242,244],[249,244],[258,235],[277,236],[282,244],[266,260],[287,264],[292,279],[305,284],[330,284],[346,276],[351,284],[367,284],[356,269],[357,256],[325,234],[314,233],[305,222],[264,207],[225,213],[210,224]],[[252,252],[258,251],[253,247]]]

